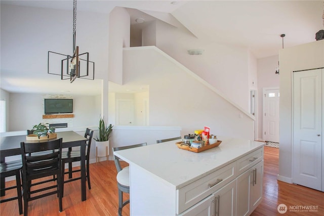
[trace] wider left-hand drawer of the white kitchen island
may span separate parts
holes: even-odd
[[[203,200],[233,179],[236,162],[232,162],[179,190],[177,190],[177,214]]]

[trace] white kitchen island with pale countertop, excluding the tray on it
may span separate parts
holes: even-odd
[[[114,152],[130,164],[131,215],[249,215],[262,201],[264,143],[219,140],[199,153],[181,140]]]

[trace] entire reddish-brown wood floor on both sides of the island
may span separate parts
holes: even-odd
[[[324,215],[324,193],[303,186],[277,181],[278,149],[264,147],[264,193],[263,201],[251,214],[258,215]],[[126,163],[124,162],[124,166]],[[55,195],[29,202],[28,215],[117,215],[118,191],[116,169],[113,161],[90,164],[91,190],[87,189],[87,200],[82,202],[79,181],[64,185],[63,211],[59,212]],[[14,181],[9,182],[14,184]],[[14,192],[12,192],[14,193]],[[10,196],[10,192],[6,196]],[[126,197],[125,197],[126,198]],[[289,206],[318,206],[316,212],[290,212],[280,214],[278,204]],[[129,205],[123,215],[129,215]],[[17,201],[1,203],[1,215],[19,215]]]

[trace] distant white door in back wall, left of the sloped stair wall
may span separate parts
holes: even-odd
[[[116,101],[116,124],[134,125],[135,107],[133,100],[119,99]]]

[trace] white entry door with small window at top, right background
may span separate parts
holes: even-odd
[[[279,90],[265,90],[264,100],[265,141],[279,143]]]

